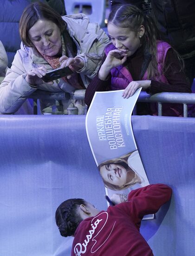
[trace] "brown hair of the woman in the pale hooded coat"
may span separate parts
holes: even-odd
[[[58,26],[61,33],[67,27],[67,24],[62,17],[47,4],[35,2],[28,5],[24,9],[19,23],[21,40],[28,47],[32,47],[28,32],[38,20],[52,21]]]

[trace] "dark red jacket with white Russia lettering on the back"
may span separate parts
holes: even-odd
[[[171,191],[163,184],[135,189],[128,202],[84,219],[76,229],[71,256],[152,256],[139,232],[141,220],[156,213],[170,199]]]

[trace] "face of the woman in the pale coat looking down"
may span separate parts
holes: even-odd
[[[29,38],[40,54],[54,56],[61,50],[61,32],[50,20],[38,20],[29,29]]]

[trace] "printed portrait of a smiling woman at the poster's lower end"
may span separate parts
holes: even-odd
[[[137,150],[121,158],[104,161],[98,169],[108,189],[124,190],[137,183],[141,187],[149,184]]]

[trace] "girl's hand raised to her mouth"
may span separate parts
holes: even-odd
[[[126,60],[127,60],[127,50],[124,50],[124,49],[111,50],[106,56],[104,63],[100,67],[100,70],[98,73],[99,79],[106,80],[108,74],[110,73],[110,70],[113,67],[118,67],[122,65]]]

